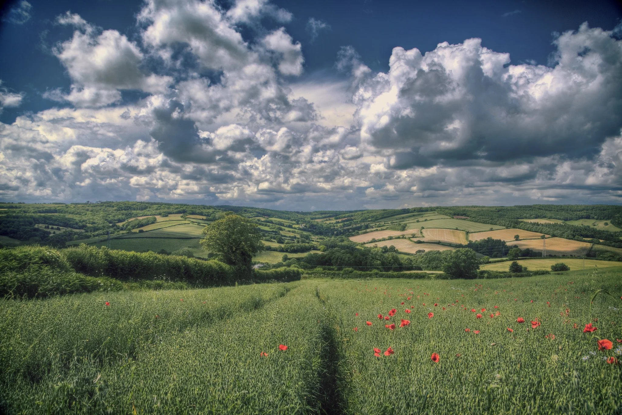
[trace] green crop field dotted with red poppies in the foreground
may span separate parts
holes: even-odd
[[[615,413],[621,275],[0,300],[0,411]]]

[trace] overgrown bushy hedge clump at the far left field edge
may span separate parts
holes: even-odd
[[[45,298],[62,294],[120,291],[123,284],[112,278],[93,278],[50,267],[30,267],[0,273],[0,297]]]

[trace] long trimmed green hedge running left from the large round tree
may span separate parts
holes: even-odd
[[[75,271],[90,276],[105,275],[124,281],[183,281],[195,286],[228,285],[236,280],[232,267],[213,260],[98,249],[84,244],[63,249],[61,253]]]

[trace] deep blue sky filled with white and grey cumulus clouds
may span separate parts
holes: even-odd
[[[0,12],[0,201],[622,202],[619,1]]]

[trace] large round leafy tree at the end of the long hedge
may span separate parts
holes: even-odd
[[[246,271],[251,270],[253,255],[264,249],[259,227],[233,213],[206,226],[203,235],[203,249],[219,253],[225,263]]]

